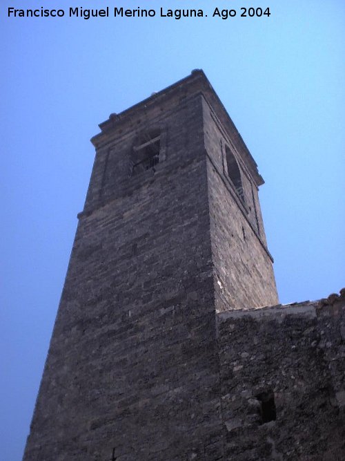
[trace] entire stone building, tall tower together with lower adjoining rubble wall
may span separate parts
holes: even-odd
[[[204,73],[100,128],[23,460],[345,459],[344,292],[278,305]]]

